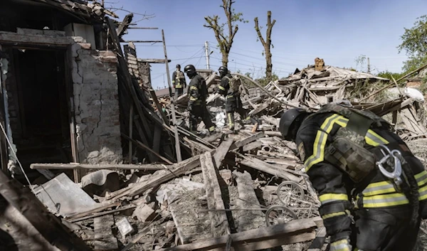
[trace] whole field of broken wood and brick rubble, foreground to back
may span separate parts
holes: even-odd
[[[357,79],[378,80],[367,73],[337,73],[332,67],[307,68],[265,87],[244,87],[243,106],[255,119],[241,124],[237,134],[222,132],[224,100],[214,92],[206,103],[217,132],[204,135],[203,122],[199,134],[188,132],[183,95],[176,100],[176,123],[181,145],[191,149],[189,159],[175,164],[32,164],[32,169],[93,170],[80,187],[65,174],[56,176],[35,188],[38,198],[95,250],[321,250],[327,241],[317,213],[320,202],[295,144],[280,137],[278,123],[290,107],[317,110],[331,101],[317,92],[318,81],[335,100],[346,97],[337,92],[366,84]],[[206,82],[214,90],[218,77],[214,73]],[[170,118],[170,101],[157,102]],[[426,137],[425,122],[418,117],[423,105],[408,92],[380,103],[346,104],[389,119],[412,146]]]

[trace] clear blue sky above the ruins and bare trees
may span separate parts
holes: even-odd
[[[164,29],[169,70],[177,63],[181,68],[191,63],[206,69],[204,43],[209,41],[211,69],[218,70],[221,53],[216,48],[214,32],[205,28],[204,16],[218,14],[226,21],[221,0],[106,0],[105,6],[123,7],[154,18],[140,21],[138,26],[158,27],[159,30],[129,30],[125,40],[162,40]],[[118,1],[118,2],[117,2]],[[371,70],[401,71],[404,52],[398,53],[404,28],[411,28],[418,16],[427,14],[425,0],[235,0],[234,9],[243,13],[248,23],[238,23],[239,30],[229,55],[231,71],[263,75],[263,46],[257,42],[253,18],[258,16],[265,26],[267,11],[276,20],[272,32],[273,72],[288,76],[295,68],[314,64],[316,57],[326,65],[357,68],[359,55],[370,58]],[[127,13],[116,11],[120,18]],[[134,21],[139,20],[134,17]],[[262,31],[265,35],[265,29]],[[137,44],[138,58],[164,58],[161,43]],[[360,65],[357,70],[361,70]],[[366,65],[363,70],[366,70]],[[167,86],[166,66],[152,65],[154,89]]]

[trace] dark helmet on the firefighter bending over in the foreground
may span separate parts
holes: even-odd
[[[283,113],[279,122],[279,131],[286,140],[295,140],[297,128],[307,111],[302,108],[293,108]]]

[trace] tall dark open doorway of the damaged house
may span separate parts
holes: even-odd
[[[31,163],[70,162],[65,50],[14,49],[21,134],[18,158]]]

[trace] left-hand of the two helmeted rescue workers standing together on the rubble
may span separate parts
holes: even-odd
[[[209,134],[211,134],[215,131],[215,126],[206,108],[206,96],[208,95],[206,81],[201,75],[196,73],[194,65],[186,65],[184,72],[190,78],[188,91],[189,103],[187,108],[190,112],[190,130],[193,133],[197,133],[197,120],[201,117],[206,129],[208,129]]]

